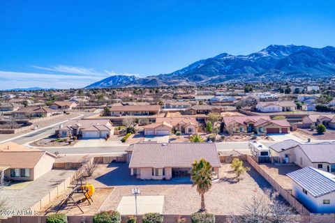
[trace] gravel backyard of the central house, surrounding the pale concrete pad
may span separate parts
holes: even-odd
[[[247,165],[248,166],[248,165]],[[114,186],[114,191],[107,198],[101,210],[115,210],[124,196],[129,196],[136,185],[142,195],[165,196],[165,214],[191,214],[200,208],[200,196],[191,183],[177,183],[173,180],[137,180],[130,176],[126,164],[110,164],[99,170],[102,176],[94,183],[100,186]],[[251,169],[243,178],[237,181],[230,164],[223,164],[222,178],[214,182],[211,190],[205,194],[209,212],[217,215],[241,213],[243,201],[248,201],[254,194],[263,194],[263,189],[271,187],[255,169]]]

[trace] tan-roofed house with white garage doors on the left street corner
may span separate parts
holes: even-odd
[[[114,134],[114,128],[108,119],[70,120],[55,131],[59,137],[80,136],[82,139],[105,138]]]

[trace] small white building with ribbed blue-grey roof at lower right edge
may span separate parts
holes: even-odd
[[[334,174],[305,167],[286,175],[292,180],[293,196],[311,213],[334,213]]]

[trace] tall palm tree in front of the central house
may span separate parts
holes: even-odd
[[[209,191],[211,188],[211,164],[201,158],[199,161],[194,160],[191,170],[191,180],[193,185],[197,186],[197,191],[201,197],[201,208],[200,211],[205,211],[204,207],[204,193]]]

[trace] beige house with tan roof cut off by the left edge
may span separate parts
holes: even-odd
[[[36,180],[53,167],[56,156],[13,142],[0,145],[0,180]]]

